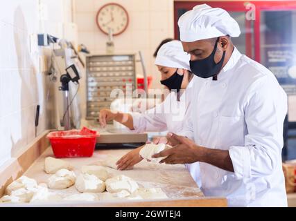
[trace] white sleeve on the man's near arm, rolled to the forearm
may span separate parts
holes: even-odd
[[[237,178],[270,175],[281,164],[287,96],[276,79],[264,76],[245,97],[245,146],[230,146]]]

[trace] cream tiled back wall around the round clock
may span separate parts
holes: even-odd
[[[115,53],[141,50],[146,73],[153,75],[152,88],[161,87],[153,53],[163,39],[173,37],[173,0],[74,0],[78,43],[85,44],[92,54],[105,53],[107,35],[96,26],[96,12],[110,2],[121,4],[130,17],[127,30],[114,37]],[[137,74],[142,75],[141,64],[137,64]]]

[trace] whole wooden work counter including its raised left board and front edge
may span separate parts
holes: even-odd
[[[27,175],[34,178],[38,183],[47,182],[51,176],[46,174],[44,169],[44,159],[53,156],[49,141],[46,139],[44,132],[37,137],[35,141],[26,146],[19,152],[19,155],[12,158],[7,166],[0,170],[1,193],[6,186],[17,177]],[[45,150],[45,151],[44,151]],[[100,160],[105,160],[109,155],[120,157],[129,150],[101,150],[95,151],[93,157],[87,158],[67,158],[63,160],[69,161],[74,166],[76,175],[80,173],[83,165],[96,164]],[[42,155],[41,155],[42,153]],[[38,157],[39,156],[39,157]],[[30,166],[31,165],[31,166]],[[30,167],[29,167],[30,166]],[[29,168],[28,168],[29,167]],[[205,198],[202,191],[193,181],[189,172],[184,165],[166,165],[155,164],[142,161],[133,170],[117,171],[115,169],[107,169],[110,176],[124,174],[136,180],[140,187],[160,187],[168,195],[169,199],[164,200],[112,200],[97,202],[44,202],[41,204],[0,204],[0,206],[227,206],[225,198]],[[78,193],[74,186],[64,190],[51,190],[62,196]]]

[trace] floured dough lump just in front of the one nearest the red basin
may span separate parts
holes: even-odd
[[[73,171],[60,169],[54,175],[51,175],[48,180],[50,189],[66,189],[73,186],[76,180],[76,175]]]

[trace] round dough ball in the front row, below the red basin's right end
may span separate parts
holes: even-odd
[[[92,174],[80,174],[75,182],[75,187],[80,193],[102,193],[105,191],[105,183]]]

